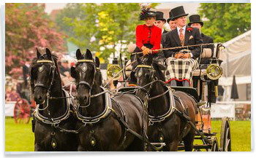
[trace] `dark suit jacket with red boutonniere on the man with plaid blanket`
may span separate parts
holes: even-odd
[[[184,46],[194,45],[194,44],[203,44],[202,37],[200,35],[200,31],[197,28],[192,28],[192,31],[187,31],[187,28],[189,26],[186,26],[185,31],[185,42]],[[178,36],[177,28],[173,31],[170,31],[165,34],[165,44],[164,48],[170,48],[170,47],[181,47],[181,41]],[[189,39],[189,37],[192,36],[193,38]],[[178,48],[175,50],[164,50],[165,58],[169,58],[173,56],[176,52],[179,52],[180,50],[184,50],[186,48]],[[200,56],[200,46],[198,47],[188,47],[189,50],[192,51],[192,58],[198,58]]]

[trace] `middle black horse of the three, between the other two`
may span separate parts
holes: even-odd
[[[78,63],[70,71],[78,93],[78,151],[143,151],[143,103],[129,94],[110,99],[101,87],[99,60],[94,62],[90,50],[82,55],[78,49],[76,57]]]

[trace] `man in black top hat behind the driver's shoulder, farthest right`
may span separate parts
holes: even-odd
[[[210,36],[206,36],[201,32],[201,28],[203,27],[203,22],[200,20],[200,15],[191,15],[189,16],[189,26],[192,28],[198,28],[201,37],[203,39],[203,44],[210,44],[214,43],[214,39],[212,39]],[[211,49],[211,57],[214,55],[214,44],[203,46],[203,48],[210,48]],[[208,59],[202,58],[200,60],[200,63],[209,63],[210,61]]]

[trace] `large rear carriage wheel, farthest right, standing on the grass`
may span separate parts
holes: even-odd
[[[220,148],[221,148],[221,151],[231,151],[230,121],[228,117],[222,118]]]

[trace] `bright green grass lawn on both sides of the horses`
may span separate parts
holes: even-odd
[[[212,132],[220,141],[221,121],[212,121]],[[251,151],[251,122],[230,121],[232,151]],[[219,142],[220,143],[220,142]],[[29,124],[15,124],[14,119],[5,119],[5,151],[34,151],[34,133]]]

